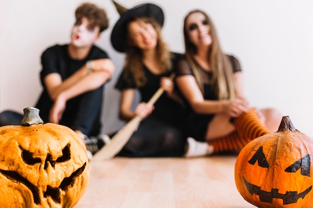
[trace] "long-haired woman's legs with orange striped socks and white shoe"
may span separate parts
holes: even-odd
[[[190,148],[185,157],[205,156],[224,151],[239,151],[251,140],[272,131],[267,128],[267,125],[273,125],[274,127],[279,116],[279,113],[273,109],[264,109],[264,111],[251,109],[235,119],[236,129],[235,125],[229,122],[230,118],[228,116],[216,115],[207,127],[207,143],[188,138]]]

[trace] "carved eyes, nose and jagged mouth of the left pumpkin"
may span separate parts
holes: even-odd
[[[21,157],[23,161],[28,164],[28,165],[33,165],[35,163],[40,163],[39,158],[33,158],[32,153],[30,153],[27,150],[23,150],[21,147]],[[69,154],[69,144],[64,147],[62,150],[62,156],[59,157],[56,161],[51,160],[51,155],[48,154],[44,163],[44,170],[47,168],[47,164],[50,164],[51,167],[54,167],[54,165],[57,162],[65,162],[70,159],[70,154]],[[70,186],[75,181],[75,178],[79,177],[82,172],[84,171],[86,167],[86,163],[84,163],[80,168],[78,168],[76,171],[74,171],[69,177],[64,178],[63,181],[60,183],[59,187],[46,187],[46,191],[43,193],[43,197],[47,198],[48,196],[56,203],[60,204],[61,199],[60,199],[60,191],[66,191]],[[32,193],[33,196],[33,202],[36,205],[40,204],[40,197],[38,194],[38,188],[31,184],[27,179],[22,177],[20,174],[18,174],[15,171],[5,171],[5,170],[0,170],[0,173],[5,176],[7,179],[15,181],[17,183],[21,183],[24,186],[26,186],[30,192]]]

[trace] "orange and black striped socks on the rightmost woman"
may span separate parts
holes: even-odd
[[[267,127],[261,123],[254,109],[235,118],[234,125],[235,132],[207,141],[208,145],[213,146],[214,153],[240,151],[251,140],[270,133]]]

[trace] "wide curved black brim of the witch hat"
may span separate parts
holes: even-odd
[[[119,52],[125,51],[125,34],[126,34],[126,24],[129,19],[134,17],[151,17],[160,26],[163,26],[164,14],[162,9],[152,3],[145,3],[135,6],[128,11],[126,11],[115,23],[112,33],[111,33],[111,44],[113,48]]]

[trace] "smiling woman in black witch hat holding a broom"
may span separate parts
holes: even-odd
[[[115,6],[122,7],[117,3]],[[114,49],[125,52],[124,68],[115,86],[121,92],[119,118],[129,121],[139,116],[142,121],[118,156],[181,156],[186,141],[180,129],[183,106],[168,77],[182,55],[170,52],[163,41],[160,7],[145,3],[123,11],[111,33]],[[160,87],[164,93],[153,106],[148,104]],[[132,109],[136,90],[141,100]]]

